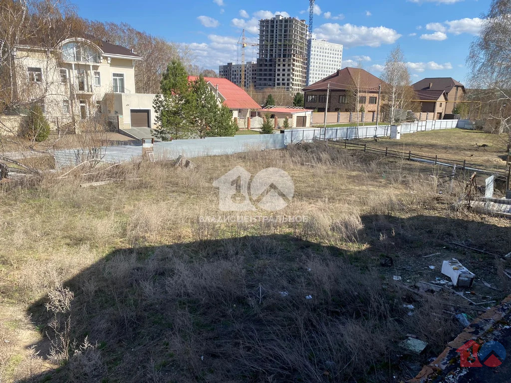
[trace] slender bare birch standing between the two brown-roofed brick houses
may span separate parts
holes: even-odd
[[[382,95],[387,103],[387,118],[390,124],[406,119],[406,112],[413,107],[414,92],[411,87],[410,73],[405,64],[401,48],[397,46],[390,52],[382,71]]]

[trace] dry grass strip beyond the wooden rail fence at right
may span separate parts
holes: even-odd
[[[380,138],[369,146],[458,161],[466,160],[485,169],[506,170],[506,136],[467,129],[448,129],[401,135],[400,140]],[[355,140],[353,142],[367,142]],[[477,146],[476,146],[477,145]],[[485,146],[485,147],[483,147]]]

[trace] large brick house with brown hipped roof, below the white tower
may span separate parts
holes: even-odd
[[[364,69],[350,67],[340,69],[333,75],[304,88],[306,109],[325,111],[329,83],[328,112],[355,112],[353,91],[359,89],[359,108],[363,107],[366,113],[376,113],[378,87],[383,85],[383,80]]]

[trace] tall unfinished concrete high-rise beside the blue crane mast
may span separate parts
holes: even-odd
[[[259,21],[255,88],[299,92],[307,82],[307,24],[276,15]]]

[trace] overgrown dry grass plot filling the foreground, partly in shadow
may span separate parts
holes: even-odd
[[[478,313],[411,291],[443,259],[497,289],[481,297],[509,293],[499,259],[451,244],[511,251],[509,221],[456,204],[463,177],[449,194],[442,169],[320,144],[193,162],[0,184],[0,381],[399,381],[460,331],[455,314]],[[202,222],[231,215],[213,182],[237,165],[285,170],[294,198]],[[399,347],[407,334],[425,353]]]

